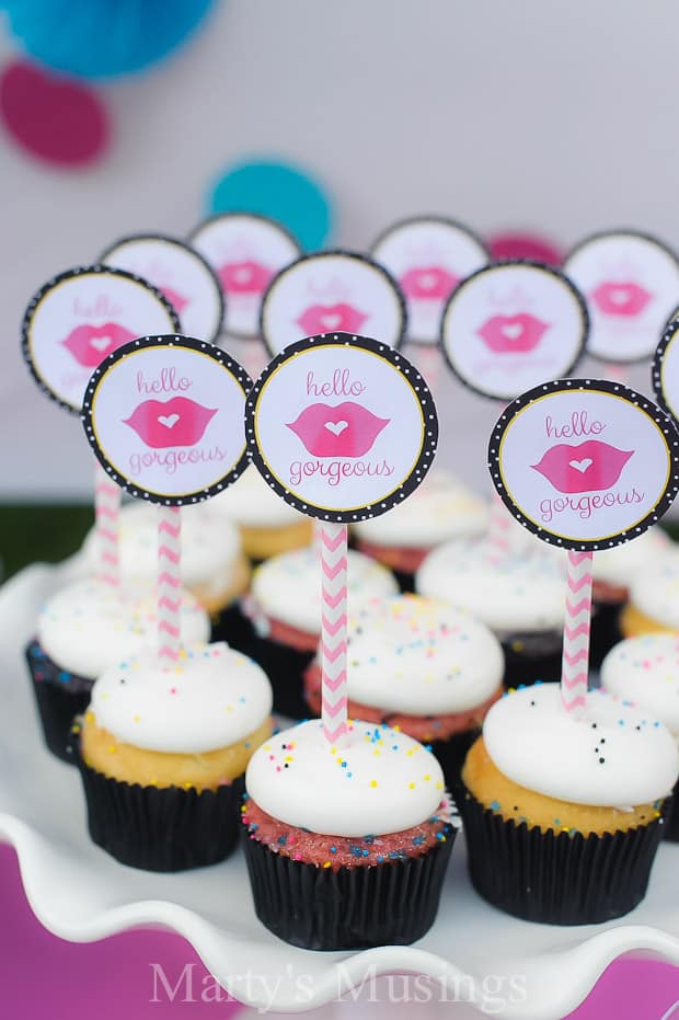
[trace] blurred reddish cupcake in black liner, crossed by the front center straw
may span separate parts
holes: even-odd
[[[304,719],[303,675],[321,634],[320,552],[314,547],[284,552],[258,566],[243,601],[250,632],[231,642],[265,671],[274,688],[274,708],[291,719]],[[394,595],[393,574],[360,552],[348,553],[348,604],[352,611],[371,598]]]

